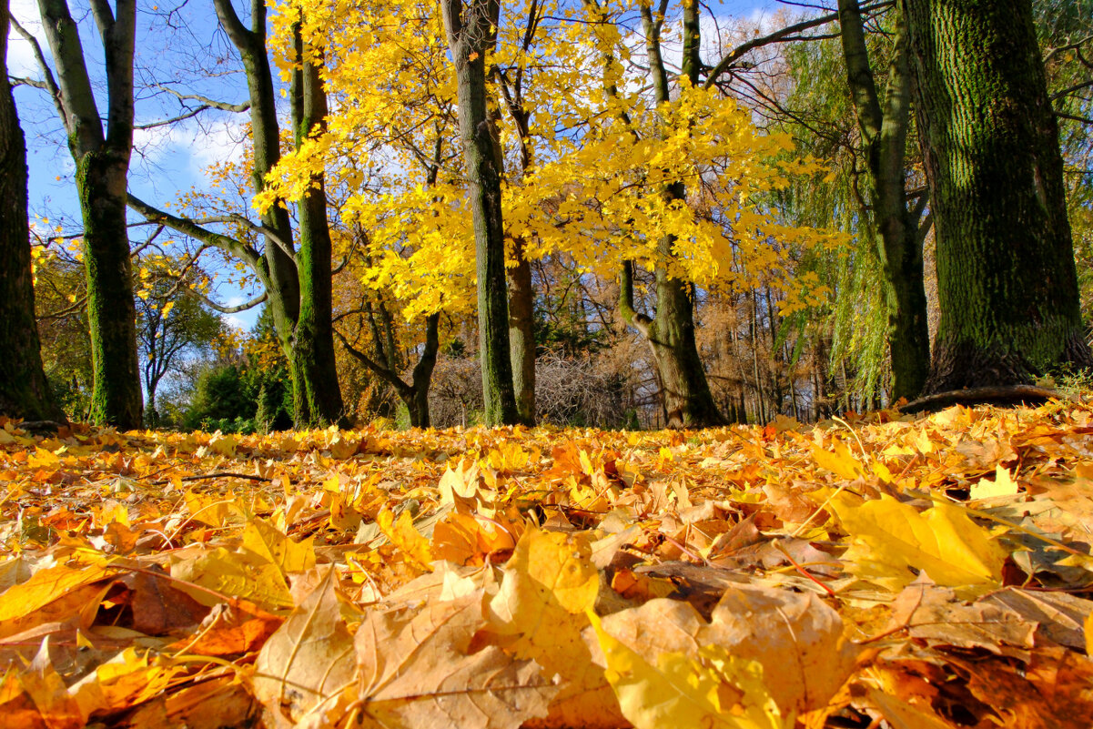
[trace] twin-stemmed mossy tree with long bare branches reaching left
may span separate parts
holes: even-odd
[[[251,187],[256,196],[267,188],[267,177],[281,158],[281,127],[277,93],[267,48],[267,8],[251,3],[250,27],[239,19],[231,0],[215,0],[221,26],[238,51],[246,72],[249,104],[216,104],[219,108],[250,115]],[[290,9],[291,10],[291,9]],[[294,139],[297,144],[321,132],[326,97],[319,79],[321,52],[307,44],[294,46],[290,56],[294,69],[291,89]],[[294,420],[297,427],[326,423],[345,423],[341,389],[334,371],[333,330],[331,325],[331,245],[326,217],[327,199],[322,173],[307,180],[298,198],[292,199],[299,211],[299,236],[293,237],[292,219],[283,200],[262,205],[261,223],[254,224],[242,214],[213,216],[207,222],[173,215],[129,196],[129,204],[151,222],[163,224],[204,244],[218,247],[254,271],[263,293],[249,306],[268,301],[281,348],[289,360],[292,378]],[[260,234],[259,249],[249,239],[214,231],[211,223],[235,225],[248,234]],[[219,307],[221,311],[230,309]],[[238,310],[238,307],[235,308]]]

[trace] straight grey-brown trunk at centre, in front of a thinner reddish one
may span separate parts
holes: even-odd
[[[478,274],[479,351],[486,425],[519,422],[513,392],[505,281],[505,230],[501,171],[486,115],[485,56],[495,44],[497,0],[443,0],[448,48],[456,68],[459,132],[467,166],[468,198],[474,221]]]

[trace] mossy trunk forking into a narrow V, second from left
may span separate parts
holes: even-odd
[[[95,104],[77,24],[66,0],[39,0],[43,32],[52,51],[56,81],[45,83],[68,132],[83,216],[87,320],[94,371],[91,420],[140,427],[143,403],[137,363],[126,185],[133,133],[134,0],[92,0],[105,56],[106,129]]]

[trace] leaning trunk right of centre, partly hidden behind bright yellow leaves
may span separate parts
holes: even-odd
[[[698,84],[698,71],[702,67],[698,58],[698,11],[697,2],[683,5],[682,72],[692,85]],[[659,12],[654,13],[647,2],[642,3],[640,12],[654,93],[658,104],[667,104],[670,91],[660,48],[663,16]],[[686,187],[682,181],[677,181],[666,186],[660,195],[669,203],[685,202]],[[649,317],[635,310],[633,271],[630,264],[624,267],[622,274],[620,309],[623,318],[642,333],[653,350],[667,426],[682,428],[720,425],[725,420],[714,402],[695,341],[694,286],[670,273],[669,262],[675,256],[674,245],[675,238],[671,235],[665,236],[657,245],[662,263],[656,270],[655,315]]]

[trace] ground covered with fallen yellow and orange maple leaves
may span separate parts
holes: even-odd
[[[0,726],[1093,717],[1090,404],[682,433],[0,425]]]

